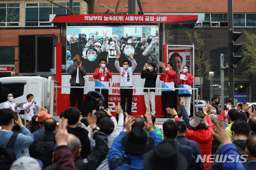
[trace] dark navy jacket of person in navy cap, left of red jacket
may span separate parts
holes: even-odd
[[[179,144],[188,144],[188,138],[186,138],[185,136],[177,136],[177,140]],[[195,156],[195,158],[197,158],[198,155],[202,155],[199,145],[194,140],[190,140],[189,146],[192,148],[192,153]],[[202,162],[202,160],[199,159],[193,169],[204,170],[204,163]]]

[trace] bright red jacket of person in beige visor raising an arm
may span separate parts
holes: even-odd
[[[175,121],[179,120],[180,118],[176,118]],[[214,128],[212,126],[212,121],[209,117],[209,115],[206,115],[206,121],[208,123],[208,129],[198,129],[198,130],[189,130],[187,129],[186,132],[186,138],[189,140],[194,140],[196,143],[198,143],[202,158],[204,158],[204,155],[211,155],[212,154],[212,138],[213,134],[210,131],[214,131]],[[211,166],[211,159],[208,160],[208,162],[204,162],[204,169],[208,170]]]

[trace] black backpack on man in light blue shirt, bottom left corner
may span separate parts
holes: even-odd
[[[9,170],[12,162],[16,160],[16,154],[12,149],[18,133],[13,133],[6,146],[0,146],[0,167],[1,170]]]

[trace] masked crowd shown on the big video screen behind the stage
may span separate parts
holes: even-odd
[[[73,58],[76,55],[81,56],[82,66],[86,67],[88,73],[94,72],[100,59],[106,60],[106,66],[111,73],[117,73],[114,67],[117,53],[120,53],[122,60],[127,59],[130,61],[130,53],[132,53],[141,67],[143,67],[144,63],[157,65],[158,30],[156,30],[154,36],[148,36],[148,33],[144,31],[138,37],[126,33],[124,37],[119,38],[116,32],[112,32],[112,35],[109,36],[108,34],[111,33],[108,30],[102,31],[102,34],[100,34],[99,32],[96,32],[95,35],[92,34],[91,39],[87,39],[86,34],[78,34],[78,38],[76,38],[75,30],[73,32],[70,30],[70,38],[67,42],[67,73],[70,72],[70,66],[75,64]],[[97,36],[102,38],[97,38]],[[138,67],[135,72],[139,73],[141,67]],[[158,67],[155,69],[157,70]]]

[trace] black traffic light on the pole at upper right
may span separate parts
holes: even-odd
[[[242,47],[241,44],[235,44],[234,42],[241,36],[241,32],[232,32],[229,31],[228,32],[228,65],[229,66],[233,66],[234,64],[236,64],[241,58],[241,55],[234,55],[234,53],[236,53],[236,51]]]

